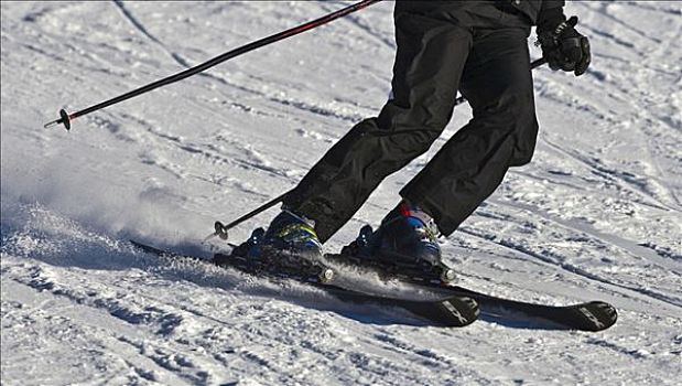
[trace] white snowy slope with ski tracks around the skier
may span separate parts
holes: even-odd
[[[196,245],[213,221],[294,186],[354,122],[376,115],[390,87],[390,2],[77,119],[71,132],[42,127],[59,108],[85,108],[344,4],[2,2],[3,385],[679,384],[679,2],[570,2],[594,47],[589,72],[535,72],[533,162],[443,242],[464,286],[611,302],[620,319],[602,333],[495,319],[427,326],[127,245]],[[385,181],[326,247],[376,225],[468,118],[458,107],[433,149]]]

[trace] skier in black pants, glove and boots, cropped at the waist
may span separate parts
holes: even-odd
[[[551,68],[577,76],[589,65],[587,39],[566,21],[563,7],[563,0],[396,2],[388,103],[332,147],[286,195],[253,253],[272,248],[320,258],[323,243],[379,183],[439,138],[459,90],[473,119],[400,191],[402,200],[379,228],[356,242],[361,256],[441,264],[439,234],[451,235],[510,167],[530,162],[533,154],[531,26],[537,25]]]

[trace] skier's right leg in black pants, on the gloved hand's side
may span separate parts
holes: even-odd
[[[461,85],[474,118],[401,191],[445,235],[500,184],[509,167],[530,161],[535,146],[527,30],[478,30]]]

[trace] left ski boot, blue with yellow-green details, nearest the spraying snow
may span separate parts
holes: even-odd
[[[313,224],[290,211],[282,211],[270,224],[253,230],[251,237],[235,247],[251,271],[329,282],[335,272],[323,260],[322,244]]]

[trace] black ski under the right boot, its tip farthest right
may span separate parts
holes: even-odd
[[[342,254],[325,255],[331,261],[344,265],[357,265],[357,259]],[[533,302],[511,300],[477,292],[467,288],[458,287],[440,280],[429,280],[419,276],[392,275],[391,271],[382,271],[377,265],[371,265],[383,280],[398,280],[421,289],[442,291],[444,294],[456,297],[470,297],[476,300],[484,315],[516,319],[542,319],[555,324],[556,329],[580,331],[603,331],[614,325],[618,319],[616,308],[604,301],[588,301],[569,305],[546,305]]]

